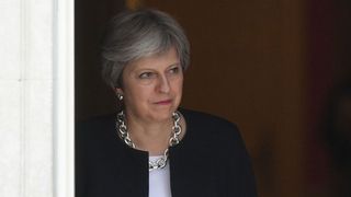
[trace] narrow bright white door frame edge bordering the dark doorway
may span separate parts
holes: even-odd
[[[75,197],[75,0],[54,5],[54,196]]]

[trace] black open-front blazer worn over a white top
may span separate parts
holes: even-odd
[[[186,132],[169,149],[172,197],[256,197],[249,155],[235,125],[181,109]],[[115,116],[76,128],[76,197],[147,197],[148,153],[117,136]]]

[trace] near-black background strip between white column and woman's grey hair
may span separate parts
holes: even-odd
[[[114,111],[114,93],[100,74],[100,40],[124,0],[75,1],[76,119]]]

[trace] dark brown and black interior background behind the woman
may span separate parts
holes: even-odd
[[[76,0],[77,120],[115,111],[99,43],[126,7],[158,8],[184,27],[182,106],[238,124],[261,197],[351,196],[351,128],[325,125],[335,90],[350,86],[350,1]],[[351,123],[348,113],[341,121]]]

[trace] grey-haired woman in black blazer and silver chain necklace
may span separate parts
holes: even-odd
[[[102,73],[118,109],[77,127],[78,197],[257,196],[236,126],[179,108],[189,54],[182,28],[163,12],[111,21]]]

